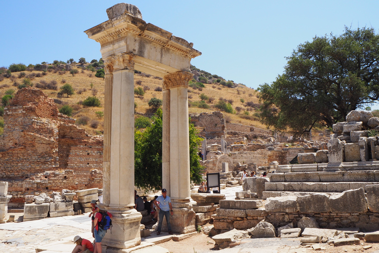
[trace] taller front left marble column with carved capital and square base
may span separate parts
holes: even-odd
[[[109,180],[105,180],[105,189],[109,190],[106,208],[113,214],[113,228],[112,234],[105,235],[102,244],[128,249],[141,243],[142,218],[134,209],[134,55],[121,53],[106,62],[108,68],[113,68],[112,101],[106,101],[106,105],[112,107],[108,112],[112,115],[112,122],[108,125],[112,129],[111,163]]]

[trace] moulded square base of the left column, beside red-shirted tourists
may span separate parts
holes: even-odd
[[[113,215],[112,234],[111,231],[105,234],[102,245],[107,246],[109,249],[115,248],[113,250],[129,249],[140,245],[141,213],[135,209],[123,213],[117,213],[112,209],[108,211]]]

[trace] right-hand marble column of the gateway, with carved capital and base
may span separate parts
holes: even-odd
[[[163,86],[170,89],[170,192],[174,210],[172,231],[195,231],[195,213],[190,202],[188,81],[192,74],[179,71],[168,74]],[[163,178],[168,176],[162,171]]]

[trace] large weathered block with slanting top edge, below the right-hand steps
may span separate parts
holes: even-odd
[[[367,212],[367,202],[363,188],[348,190],[339,195],[330,196],[329,203],[331,212]]]

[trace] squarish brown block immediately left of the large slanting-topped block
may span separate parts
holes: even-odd
[[[330,211],[329,196],[322,193],[299,196],[299,211],[301,212],[328,212]]]

